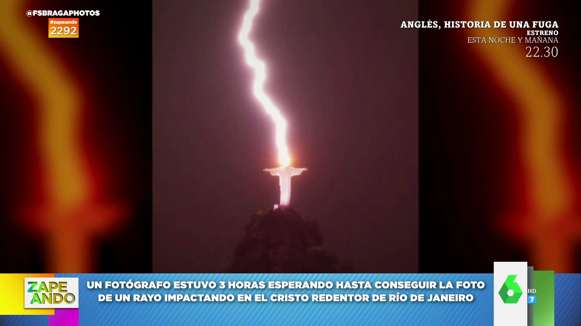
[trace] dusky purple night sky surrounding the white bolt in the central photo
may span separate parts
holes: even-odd
[[[220,272],[278,203],[274,125],[237,34],[248,1],[153,1],[153,271]],[[250,38],[288,121],[293,207],[356,271],[418,271],[417,2],[263,0]]]

